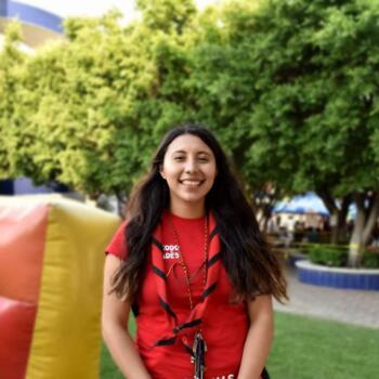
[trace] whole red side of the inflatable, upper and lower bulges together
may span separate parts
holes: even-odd
[[[24,379],[38,306],[48,205],[0,207],[0,379]]]

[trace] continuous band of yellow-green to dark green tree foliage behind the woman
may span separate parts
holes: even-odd
[[[128,192],[162,133],[191,120],[215,132],[250,192],[378,187],[378,1],[138,6],[126,27],[117,12],[70,18],[67,41],[27,58],[9,31],[2,177]]]

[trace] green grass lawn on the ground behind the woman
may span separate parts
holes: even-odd
[[[272,379],[379,378],[378,329],[280,312],[275,313],[275,322],[267,363]],[[104,347],[101,378],[122,379]]]

